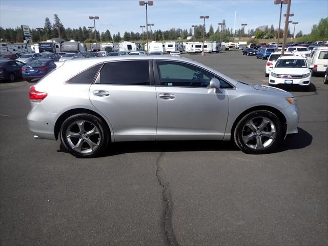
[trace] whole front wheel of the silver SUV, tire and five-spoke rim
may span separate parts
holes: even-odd
[[[268,110],[253,111],[237,123],[234,140],[244,153],[268,153],[281,140],[281,122]]]

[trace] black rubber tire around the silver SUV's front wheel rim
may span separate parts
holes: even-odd
[[[260,128],[260,124],[262,121],[260,121],[261,118],[269,119],[270,120],[270,126],[269,124],[265,125],[265,127],[262,129],[263,132],[268,132],[270,130],[270,133],[275,130],[274,132],[274,139],[270,139],[269,137],[262,136],[262,132]],[[251,121],[254,122],[255,127],[258,127],[256,132],[252,132],[251,128],[248,128],[245,126],[247,122]],[[256,124],[255,124],[256,122]],[[264,121],[263,121],[264,122]],[[271,125],[272,124],[272,125]],[[273,126],[273,127],[272,127]],[[253,112],[250,112],[246,115],[244,115],[237,123],[235,131],[234,131],[234,140],[236,145],[239,147],[239,149],[247,154],[264,154],[270,152],[272,149],[274,149],[277,144],[281,141],[282,138],[282,131],[281,131],[281,122],[279,118],[272,112],[268,110],[255,110]],[[251,140],[248,140],[246,143],[244,142],[242,136],[244,133],[249,133],[247,132],[251,131],[250,134],[255,134],[254,137],[250,138]],[[247,135],[246,135],[247,136]],[[254,139],[255,141],[254,141]],[[258,138],[264,139],[264,145],[267,144],[267,146],[263,148],[258,148],[256,149],[256,145],[258,143]],[[255,143],[256,142],[256,143]],[[250,143],[250,144],[248,144]],[[254,148],[251,148],[252,143],[255,145]],[[263,143],[263,142],[262,142]],[[247,145],[248,144],[248,145]]]

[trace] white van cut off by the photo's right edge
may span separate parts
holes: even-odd
[[[328,66],[328,47],[313,48],[308,57],[309,66],[313,66],[312,75],[323,74]]]

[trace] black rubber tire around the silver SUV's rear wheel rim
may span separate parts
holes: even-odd
[[[81,152],[75,151],[72,149],[71,145],[74,144],[72,142],[71,139],[71,143],[68,140],[68,137],[66,137],[66,131],[68,130],[69,127],[71,127],[72,125],[74,125],[74,122],[76,121],[80,121],[80,120],[84,120],[86,123],[84,123],[84,129],[85,131],[87,131],[87,127],[94,125],[99,133],[93,134],[93,137],[95,137],[94,139],[96,140],[92,140],[93,143],[95,143],[95,141],[97,141],[97,147],[95,148],[95,150],[92,150],[91,148],[89,148],[89,150],[91,149],[90,152],[86,152],[83,153],[83,151],[88,151],[88,148],[86,148],[86,146],[91,147],[90,145],[88,145],[87,140],[91,140],[91,135],[90,138],[88,138],[87,134],[83,136],[80,136],[80,140],[81,142],[86,142],[86,144],[81,144],[81,148],[84,150],[81,150]],[[85,128],[85,124],[87,124],[88,126],[86,126]],[[76,125],[77,126],[77,125]],[[73,131],[72,128],[70,128],[70,131]],[[77,128],[77,132],[74,131],[74,133],[78,134],[78,131],[80,131],[79,128]],[[60,141],[61,144],[63,144],[64,148],[72,155],[78,157],[78,158],[92,158],[92,157],[96,157],[98,156],[101,152],[103,152],[109,142],[110,139],[110,133],[108,131],[108,128],[106,126],[106,122],[104,122],[103,120],[101,120],[99,117],[92,115],[92,114],[87,114],[87,113],[80,113],[80,114],[74,114],[70,117],[68,117],[63,124],[60,127],[60,132],[59,132],[59,136],[60,136]],[[75,141],[77,141],[76,146],[78,145],[78,142],[80,141],[78,137],[72,137]]]

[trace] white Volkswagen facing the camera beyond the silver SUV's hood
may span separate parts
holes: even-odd
[[[302,56],[282,56],[269,75],[269,85],[310,86],[311,68]]]

